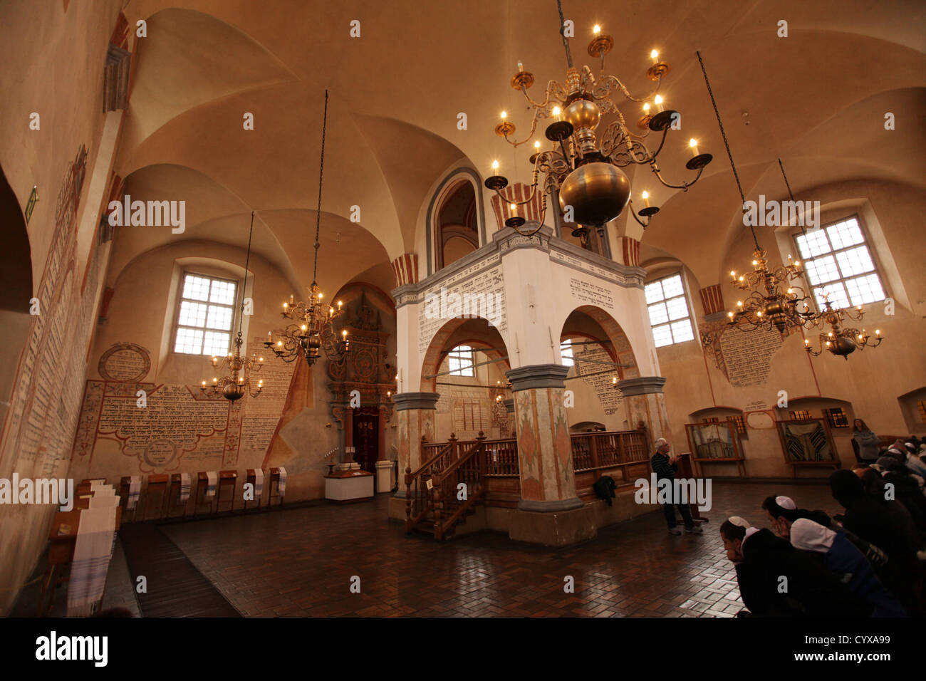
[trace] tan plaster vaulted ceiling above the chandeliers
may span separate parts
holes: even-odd
[[[634,193],[647,189],[662,208],[644,254],[681,260],[702,285],[720,281],[720,259],[743,227],[697,50],[747,198],[784,195],[779,157],[795,195],[845,180],[926,180],[921,2],[565,0],[563,10],[575,22],[577,65],[592,66],[585,48],[600,23],[616,43],[607,71],[632,93],[651,90],[650,49],[671,64],[660,93],[682,112],[682,132],[669,134],[660,167],[669,181],[690,174],[689,137],[715,160],[687,192],[648,170],[629,174]],[[135,48],[116,170],[133,198],[186,199],[187,229],[121,233],[117,272],[167,239],[244,247],[254,209],[257,253],[307,286],[327,88],[319,284],[333,291],[363,273],[388,291],[384,264],[415,250],[422,207],[448,168],[463,162],[484,177],[498,158],[510,179],[529,182],[529,145],[513,152],[493,132],[503,108],[516,137],[529,128],[508,84],[518,62],[536,76],[535,99],[540,83],[565,73],[553,0],[130,0],[123,11],[130,25],[147,20],[147,37]],[[350,35],[355,20],[360,37]],[[622,111],[640,116],[636,103]],[[884,130],[886,112],[894,131]]]

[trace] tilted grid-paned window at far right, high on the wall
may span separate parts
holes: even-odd
[[[833,308],[876,303],[886,297],[857,217],[798,234],[795,241],[820,309],[824,294],[829,295]]]

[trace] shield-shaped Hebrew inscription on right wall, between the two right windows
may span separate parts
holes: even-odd
[[[783,345],[781,334],[765,329],[743,332],[722,321],[703,322],[699,330],[705,352],[731,385],[768,383],[771,358]]]

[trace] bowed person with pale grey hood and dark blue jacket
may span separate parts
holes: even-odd
[[[907,616],[907,611],[878,579],[871,563],[842,530],[833,531],[807,518],[798,518],[791,525],[791,545],[820,553],[826,569],[872,606],[873,617]]]

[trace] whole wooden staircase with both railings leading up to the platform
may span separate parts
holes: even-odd
[[[406,468],[406,532],[448,539],[485,495],[485,434],[475,442],[456,435],[412,472]]]

